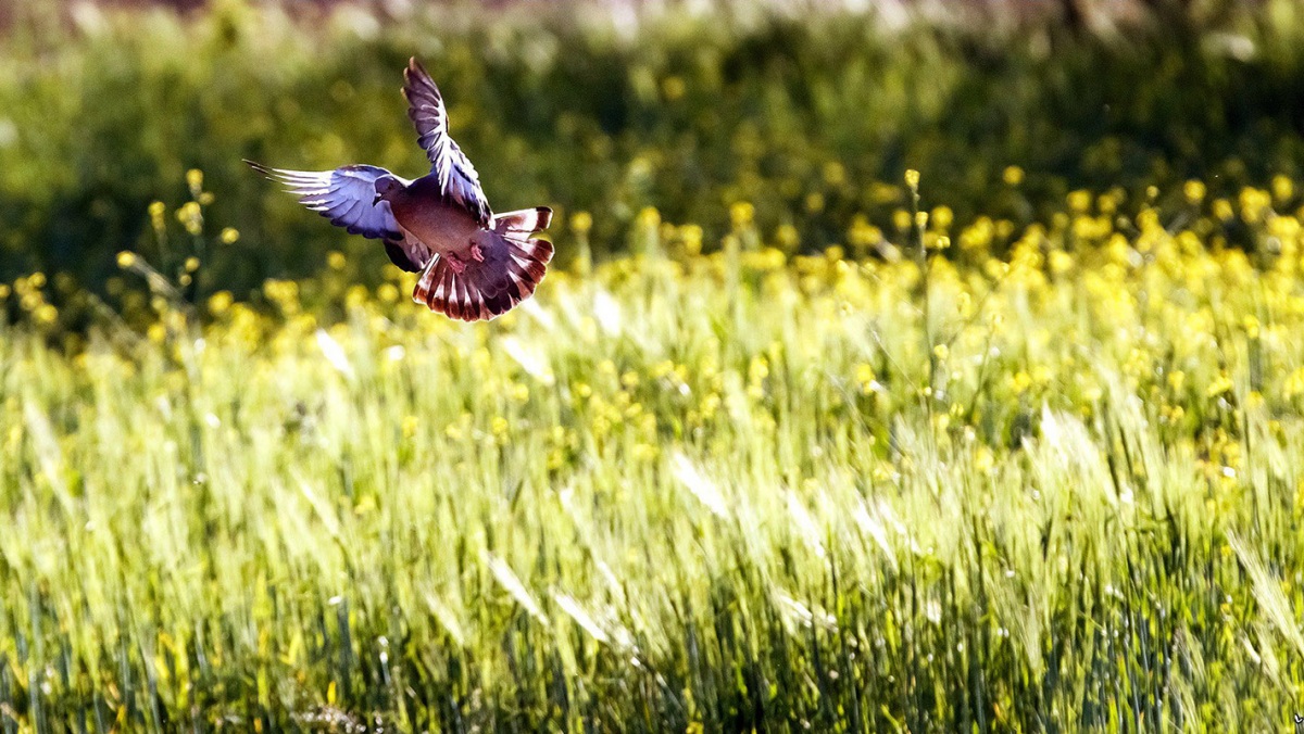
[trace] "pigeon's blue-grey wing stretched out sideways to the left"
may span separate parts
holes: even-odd
[[[390,211],[390,202],[376,201],[376,180],[393,176],[376,166],[344,166],[334,171],[284,171],[245,160],[254,171],[267,176],[299,197],[299,203],[344,227],[353,235],[373,240],[403,241],[403,229]]]

